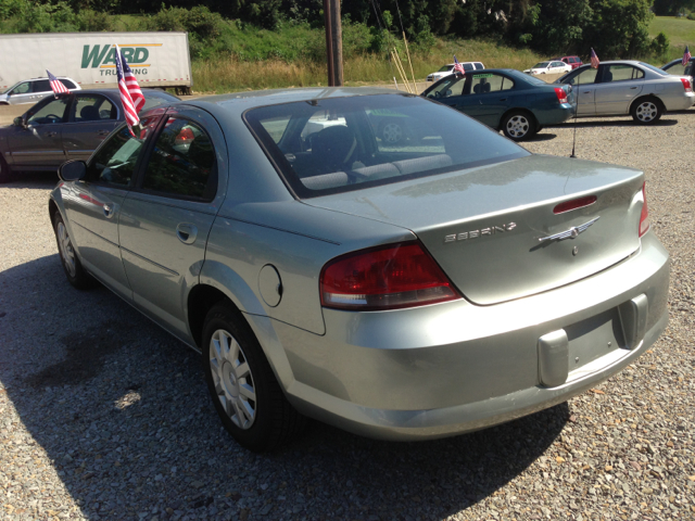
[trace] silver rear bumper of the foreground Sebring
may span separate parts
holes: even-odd
[[[649,232],[629,258],[564,288],[492,306],[325,309],[323,336],[273,322],[282,345],[273,351],[287,356],[291,377],[279,377],[303,414],[369,437],[444,437],[565,402],[631,364],[666,328],[668,284],[668,253]],[[647,303],[636,341],[617,331],[626,320],[595,327],[635,298]],[[570,338],[569,376],[544,385],[539,340],[558,331]],[[574,369],[584,350],[593,355]]]

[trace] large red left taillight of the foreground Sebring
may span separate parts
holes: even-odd
[[[396,309],[459,298],[419,242],[350,253],[321,270],[321,305],[338,309]]]

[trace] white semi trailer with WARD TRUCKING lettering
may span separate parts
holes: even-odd
[[[74,79],[83,89],[116,86],[115,45],[141,87],[193,85],[188,33],[43,33],[0,35],[0,91],[18,81],[55,76]]]

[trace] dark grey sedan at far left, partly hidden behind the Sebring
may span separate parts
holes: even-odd
[[[179,101],[159,90],[143,91],[144,107]],[[47,96],[14,124],[0,128],[0,182],[22,170],[58,170],[66,160],[88,160],[125,120],[117,89]]]

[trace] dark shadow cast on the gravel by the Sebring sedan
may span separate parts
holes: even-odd
[[[526,471],[569,418],[561,404],[419,443],[313,422],[252,454],[222,429],[198,355],[104,288],[74,290],[58,255],[0,272],[0,382],[42,450],[15,449],[93,520],[442,519]]]

